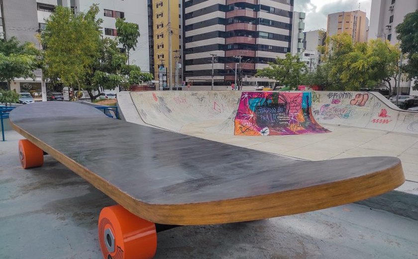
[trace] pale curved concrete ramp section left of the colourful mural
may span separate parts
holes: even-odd
[[[214,131],[231,128],[241,92],[237,91],[156,91],[130,92],[141,119],[149,125],[181,131],[190,123],[205,122]],[[230,125],[225,123],[232,116]]]

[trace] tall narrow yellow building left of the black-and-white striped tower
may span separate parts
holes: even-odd
[[[169,6],[170,2],[170,18],[171,18],[171,30],[169,31]],[[172,85],[175,83],[175,62],[176,56],[180,62],[181,56],[181,23],[179,15],[181,4],[179,0],[152,0],[152,12],[153,12],[153,46],[154,46],[154,78],[159,79],[159,68],[163,64],[167,68],[167,85],[169,84],[169,71],[172,71]],[[169,53],[169,38],[171,37],[172,48],[172,62],[169,65],[170,53]],[[178,50],[176,53],[175,51]],[[180,73],[180,72],[179,72]],[[179,84],[181,83],[179,79]]]

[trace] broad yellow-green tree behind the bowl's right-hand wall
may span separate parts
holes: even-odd
[[[381,39],[353,43],[350,35],[342,33],[328,37],[322,50],[330,83],[327,90],[359,91],[385,81],[392,91],[400,55],[397,46]]]

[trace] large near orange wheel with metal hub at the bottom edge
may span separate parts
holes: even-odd
[[[157,232],[154,223],[114,205],[100,212],[99,242],[104,259],[151,259],[157,250]]]

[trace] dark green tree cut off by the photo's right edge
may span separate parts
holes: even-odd
[[[414,90],[418,90],[418,10],[408,13],[404,21],[396,26],[402,53],[407,54],[408,63],[402,70],[408,73],[408,79],[415,79]]]

